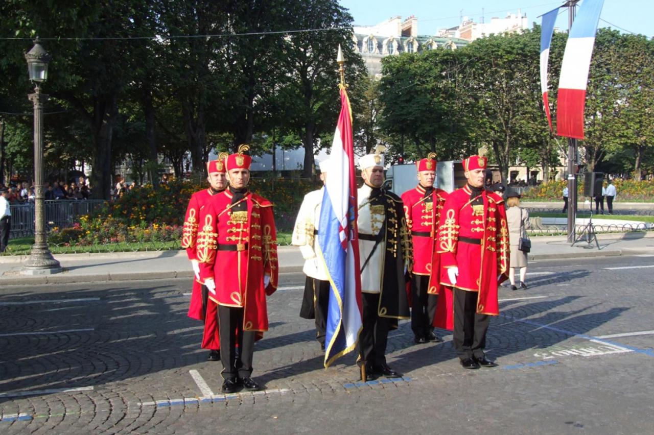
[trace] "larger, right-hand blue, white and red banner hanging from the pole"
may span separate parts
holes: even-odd
[[[604,0],[584,0],[572,23],[563,54],[559,97],[557,100],[557,134],[583,139],[584,108],[588,70],[593,56],[595,32]]]

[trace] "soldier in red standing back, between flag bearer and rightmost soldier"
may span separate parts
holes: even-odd
[[[436,180],[436,154],[416,163],[418,185],[402,194],[404,214],[411,231],[413,244],[413,270],[411,272],[411,329],[415,342],[442,342],[434,334],[434,315],[440,285],[429,284],[432,268],[440,266],[434,236],[438,234],[438,221],[447,198],[447,192],[434,188]]]

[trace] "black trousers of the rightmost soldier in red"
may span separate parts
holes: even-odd
[[[490,316],[477,314],[477,292],[454,289],[454,334],[456,355],[460,359],[482,358]]]

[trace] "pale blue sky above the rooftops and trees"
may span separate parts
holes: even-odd
[[[504,18],[508,12],[515,14],[518,9],[527,14],[531,27],[533,22],[540,24],[538,16],[562,5],[564,0],[339,0],[339,3],[350,10],[354,25],[374,25],[392,16],[414,15],[418,18],[419,35],[435,35],[438,29],[460,24],[460,16],[479,23],[483,14],[489,22],[492,17]],[[654,0],[604,0],[599,26],[653,37],[653,16]],[[557,27],[568,28],[567,12],[559,14]]]

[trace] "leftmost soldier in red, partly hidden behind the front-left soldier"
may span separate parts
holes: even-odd
[[[198,256],[196,255],[196,245],[198,241],[198,218],[200,210],[209,202],[209,199],[227,188],[227,178],[225,170],[225,159],[227,153],[220,153],[218,160],[207,163],[207,181],[209,189],[202,189],[191,195],[186,208],[186,217],[184,218],[184,227],[182,228],[182,248],[186,249],[186,255],[193,266],[195,279],[193,280],[193,290],[191,293],[191,303],[188,307],[188,317],[205,322],[205,333],[202,339],[202,348],[209,349],[209,361],[218,361],[220,359],[220,342],[218,341],[218,323],[216,322],[216,306],[209,302],[207,287],[199,283],[200,268]]]

